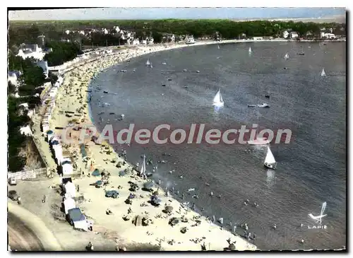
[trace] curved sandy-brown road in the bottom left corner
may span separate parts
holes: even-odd
[[[8,244],[18,251],[61,251],[52,232],[35,214],[8,202]]]

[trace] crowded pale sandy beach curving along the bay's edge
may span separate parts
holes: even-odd
[[[117,54],[103,57],[68,71],[64,75],[64,83],[56,95],[56,107],[50,120],[51,129],[61,136],[63,130],[55,129],[56,127],[65,128],[69,123],[76,123],[75,127],[79,128],[92,126],[88,111],[88,85],[92,76],[97,72],[141,54],[184,46],[154,45],[121,49]],[[92,90],[94,91],[94,89]],[[75,116],[67,117],[65,113],[67,111],[75,113]],[[116,112],[119,114],[119,110]],[[78,140],[81,130],[71,130],[68,134],[70,134],[71,139]],[[200,251],[201,245],[204,245],[206,250],[224,250],[229,247],[230,243],[234,243],[236,250],[256,250],[255,245],[247,242],[239,235],[234,235],[227,230],[223,230],[219,225],[211,223],[208,218],[179,203],[172,197],[172,194],[167,196],[162,189],[157,187],[157,184],[152,187],[152,192],[158,192],[161,204],[157,207],[152,206],[148,202],[152,192],[143,190],[143,184],[147,180],[139,177],[128,163],[121,165],[121,168],[117,168],[116,164],[123,163],[124,160],[107,143],[98,145],[87,139],[85,146],[90,157],[87,163],[83,161],[78,141],[69,145],[62,143],[62,145],[63,151],[74,157],[76,172],[80,172],[80,177],[77,177],[73,182],[79,185],[78,194],[83,196],[85,201],[78,206],[94,222],[93,231],[99,229],[109,232],[107,235],[110,236],[107,236],[107,238],[118,242],[116,245],[150,244],[160,246],[161,250]],[[129,172],[120,177],[119,172],[126,170],[126,168]],[[101,176],[88,176],[95,169],[100,170],[100,172],[103,170],[109,172],[109,184],[101,188],[90,185],[101,179]],[[59,178],[54,178],[54,182],[59,182]],[[135,192],[131,192],[131,182],[136,183],[139,187]],[[119,197],[116,199],[104,197],[104,190],[110,189],[119,192]],[[126,199],[131,193],[135,194],[136,197],[132,199],[131,204],[126,204]],[[164,213],[165,206],[172,206],[172,211]],[[112,214],[107,215],[107,209],[112,211]],[[148,225],[134,225],[133,221],[136,216],[138,216],[138,221]],[[178,218],[179,223],[169,225],[172,218]],[[251,232],[251,226],[249,231]]]

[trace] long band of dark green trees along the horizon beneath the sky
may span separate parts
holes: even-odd
[[[162,40],[165,33],[174,35],[191,34],[194,37],[213,36],[215,32],[220,33],[223,39],[238,38],[242,33],[246,37],[268,36],[280,37],[284,30],[292,29],[300,36],[311,33],[314,37],[320,35],[321,28],[333,28],[335,35],[345,35],[346,25],[344,23],[303,23],[289,21],[233,21],[233,20],[57,20],[57,21],[37,21],[37,22],[11,22],[9,25],[9,45],[19,45],[23,42],[37,42],[39,35],[45,35],[46,40],[70,39],[81,45],[122,45],[119,34],[114,33],[114,26],[119,26],[121,30],[131,30],[136,33],[136,37],[141,39],[144,36],[154,35],[155,42]],[[109,34],[100,33],[102,28],[106,28]],[[97,30],[90,35],[80,35],[70,33],[66,35],[66,30],[80,31],[85,34],[89,30]]]

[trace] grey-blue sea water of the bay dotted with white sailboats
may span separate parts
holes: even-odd
[[[283,58],[286,52],[288,60]],[[147,59],[152,69],[145,65]],[[189,129],[196,123],[225,131],[257,121],[261,129],[291,129],[290,143],[270,146],[276,170],[264,168],[267,149],[261,146],[150,141],[114,148],[124,148],[133,164],[141,163],[143,153],[154,162],[167,161],[158,163],[153,175],[162,187],[178,199],[184,192],[182,201],[195,204],[205,216],[224,218],[225,228],[232,228],[229,222],[238,225],[240,235],[244,233],[240,224],[248,223],[261,250],[346,245],[345,42],[246,42],[220,49],[217,45],[172,49],[112,66],[91,87],[91,115],[101,130],[105,124],[117,131],[132,123],[138,129],[158,124]],[[215,110],[212,100],[218,89],[225,106]],[[247,107],[262,102],[270,108]],[[121,114],[125,118],[119,121]],[[152,172],[152,165],[147,169]],[[190,188],[195,191],[187,192]],[[309,229],[317,224],[308,214],[319,215],[324,201],[327,216],[321,225],[326,228]]]

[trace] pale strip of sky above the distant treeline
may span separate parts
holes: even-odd
[[[345,8],[71,8],[8,11],[9,20],[323,18],[339,15],[345,15]]]

